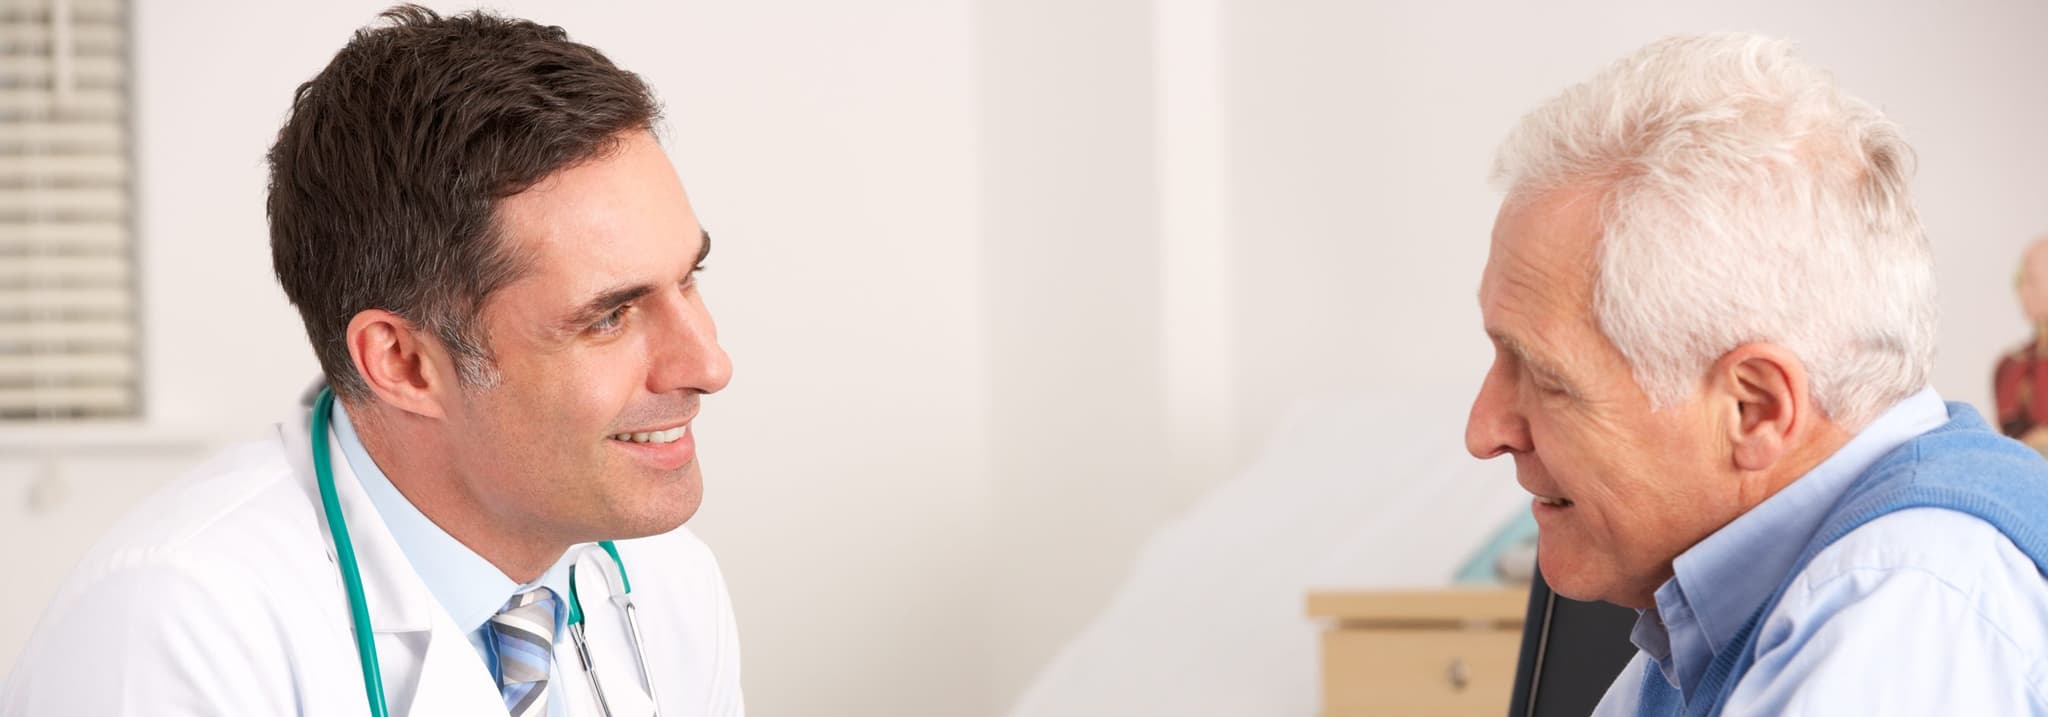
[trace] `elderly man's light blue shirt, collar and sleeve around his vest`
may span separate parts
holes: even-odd
[[[1690,701],[1849,483],[1944,422],[1942,397],[1923,389],[1681,553],[1630,635],[1640,651],[1593,715],[1634,715],[1651,668]],[[2048,582],[1980,518],[1901,510],[1821,551],[1761,623],[1757,649],[1729,715],[2048,715]]]

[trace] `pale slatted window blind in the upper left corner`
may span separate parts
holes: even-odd
[[[127,4],[0,0],[0,422],[135,416]]]

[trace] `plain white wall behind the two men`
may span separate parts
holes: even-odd
[[[111,457],[106,432],[0,432],[0,541],[27,561],[0,670],[84,549],[25,545],[98,533],[315,373],[270,279],[262,152],[379,6],[137,2],[150,428]],[[1493,143],[1655,37],[1798,37],[1907,125],[1950,397],[1989,404],[2025,332],[2013,258],[2048,229],[2040,4],[498,6],[653,82],[719,238],[737,379],[707,402],[692,526],[760,715],[997,713],[1288,406],[1468,402]],[[49,475],[68,498],[27,512]]]

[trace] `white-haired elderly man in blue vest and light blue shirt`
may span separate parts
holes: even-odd
[[[1599,715],[2048,713],[2048,463],[1944,404],[1911,150],[1749,35],[1530,113],[1466,426],[1556,592],[1642,610]]]

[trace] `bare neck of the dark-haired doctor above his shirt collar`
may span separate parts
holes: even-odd
[[[436,420],[379,402],[350,402],[346,410],[391,488],[512,582],[539,580],[569,547],[586,543],[555,535],[545,516],[520,512],[526,496],[504,496],[494,475],[471,475]]]

